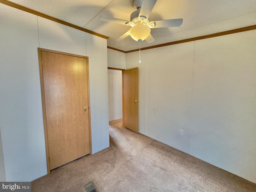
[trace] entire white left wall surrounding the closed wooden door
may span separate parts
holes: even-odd
[[[89,56],[92,152],[107,148],[106,39],[4,4],[0,25],[0,131],[6,180],[31,181],[47,173],[38,47]]]

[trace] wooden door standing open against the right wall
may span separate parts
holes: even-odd
[[[138,67],[124,70],[123,78],[123,126],[139,132],[139,78]]]

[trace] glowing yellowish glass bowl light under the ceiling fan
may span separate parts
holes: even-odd
[[[130,36],[138,42],[145,40],[150,32],[151,29],[144,24],[137,24],[129,30]]]

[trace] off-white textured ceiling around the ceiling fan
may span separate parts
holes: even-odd
[[[133,0],[10,0],[16,4],[84,27],[110,37],[108,46],[128,51],[139,43],[130,36],[116,38],[130,26],[101,21],[100,16],[130,20],[136,9]],[[141,47],[213,34],[256,24],[256,0],[157,0],[150,21],[183,18],[180,27],[151,30],[155,41],[141,42]]]

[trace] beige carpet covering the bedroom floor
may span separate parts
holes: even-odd
[[[256,184],[122,124],[110,126],[110,147],[32,182],[32,192],[256,192]]]

